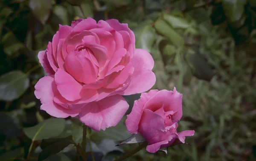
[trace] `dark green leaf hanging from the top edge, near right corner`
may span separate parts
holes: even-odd
[[[230,23],[241,19],[247,0],[222,0],[222,8]]]

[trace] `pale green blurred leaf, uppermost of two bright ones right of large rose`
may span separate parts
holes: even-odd
[[[164,14],[163,19],[166,20],[173,28],[186,29],[190,27],[190,23],[182,17],[175,17],[169,14]]]

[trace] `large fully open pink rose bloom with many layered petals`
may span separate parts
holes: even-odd
[[[41,110],[78,117],[93,130],[115,126],[128,110],[121,95],[149,90],[154,60],[135,48],[133,31],[118,20],[92,18],[60,25],[39,62],[49,74],[35,85]]]

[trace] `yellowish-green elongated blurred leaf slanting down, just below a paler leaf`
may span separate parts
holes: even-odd
[[[157,20],[154,24],[158,33],[169,38],[169,40],[176,46],[182,46],[184,44],[184,38],[180,36],[170,25],[164,20]]]

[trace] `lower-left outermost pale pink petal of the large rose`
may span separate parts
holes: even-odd
[[[75,117],[79,114],[80,109],[67,109],[53,102],[53,97],[58,93],[57,86],[54,82],[54,75],[44,76],[35,85],[35,96],[40,99],[41,110],[45,110],[49,115],[66,118]]]

